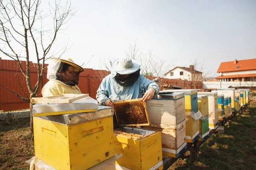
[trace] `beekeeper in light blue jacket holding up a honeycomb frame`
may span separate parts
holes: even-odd
[[[111,74],[102,80],[96,98],[101,105],[113,106],[114,101],[120,100],[143,97],[148,101],[158,93],[158,85],[140,74],[140,64],[123,57],[112,63]]]

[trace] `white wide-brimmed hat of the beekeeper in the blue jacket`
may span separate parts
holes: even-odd
[[[122,57],[112,63],[112,70],[118,74],[132,74],[139,69],[139,62],[129,57]]]

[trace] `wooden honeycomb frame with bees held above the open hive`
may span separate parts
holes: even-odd
[[[146,103],[142,98],[114,102],[114,113],[119,126],[150,124]]]

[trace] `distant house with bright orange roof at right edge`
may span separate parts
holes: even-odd
[[[256,81],[256,59],[221,62],[217,73],[219,82]]]

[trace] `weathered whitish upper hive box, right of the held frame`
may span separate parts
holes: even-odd
[[[178,125],[185,119],[183,93],[158,95],[158,99],[146,102],[151,124]]]

